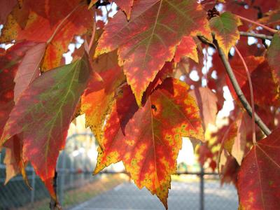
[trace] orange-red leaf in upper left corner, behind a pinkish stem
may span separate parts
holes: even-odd
[[[42,9],[45,10],[45,7]],[[9,15],[3,27],[0,42],[28,40],[48,43],[41,65],[42,71],[60,66],[62,54],[68,49],[73,36],[85,34],[92,26],[92,10],[87,10],[87,5],[83,4],[78,4],[71,10],[69,17],[64,16],[66,18],[64,22],[62,20],[54,26],[52,26],[52,20],[38,15],[28,5],[25,6],[25,10],[30,10],[26,27],[22,29],[15,17],[12,14]],[[55,9],[56,13],[64,14],[62,10],[64,7]],[[62,25],[60,25],[61,22]]]

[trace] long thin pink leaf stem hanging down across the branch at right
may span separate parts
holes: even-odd
[[[248,70],[248,66],[246,65],[246,62],[244,60],[244,57],[241,55],[241,53],[239,52],[237,47],[235,47],[235,51],[237,52],[237,55],[240,57],[243,65],[244,65],[247,77],[248,77],[250,97],[251,97],[251,107],[252,107],[253,144],[257,144],[257,141],[255,140],[255,103],[254,103],[254,98],[253,98],[253,84],[252,84],[252,80],[251,80],[251,75],[250,75],[250,72]]]

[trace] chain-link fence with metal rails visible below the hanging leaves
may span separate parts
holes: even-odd
[[[81,138],[79,141],[79,138]],[[85,139],[87,138],[87,139]],[[165,209],[148,190],[139,190],[130,178],[115,168],[92,176],[96,151],[92,134],[73,134],[67,139],[65,150],[57,163],[57,194],[63,209]],[[90,147],[88,145],[91,145]],[[82,149],[81,149],[82,148]],[[42,181],[31,167],[27,167],[29,183],[16,176],[6,186],[3,154],[0,158],[0,209],[49,209],[50,197]],[[218,174],[180,172],[172,176],[169,209],[237,209],[238,198],[234,186],[220,186]]]

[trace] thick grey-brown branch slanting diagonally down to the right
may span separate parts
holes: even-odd
[[[241,90],[241,88],[240,88],[240,86],[237,82],[237,79],[235,78],[235,73],[233,73],[232,67],[230,66],[230,63],[228,62],[228,59],[225,56],[225,53],[219,47],[218,43],[216,43],[216,48],[217,48],[218,53],[221,57],[223,65],[225,66],[225,70],[227,71],[228,76],[230,77],[230,81],[231,81],[233,87],[235,88],[235,92],[236,92],[241,104],[244,106],[244,109],[246,109],[248,115],[252,117],[252,107],[250,106],[246,97],[244,96],[244,94],[243,94],[243,92],[242,92],[242,90]],[[269,134],[271,134],[271,131],[265,125],[265,123],[262,122],[262,119],[260,119],[260,117],[258,116],[257,113],[255,113],[255,123],[258,125],[258,127],[260,127],[260,130],[262,130],[262,132],[264,132],[265,135],[268,136]]]

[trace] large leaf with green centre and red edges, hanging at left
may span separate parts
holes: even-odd
[[[69,124],[90,77],[87,56],[36,78],[10,112],[0,146],[22,134],[22,159],[48,182],[55,175],[59,151],[64,148]],[[52,197],[55,193],[48,189]]]

